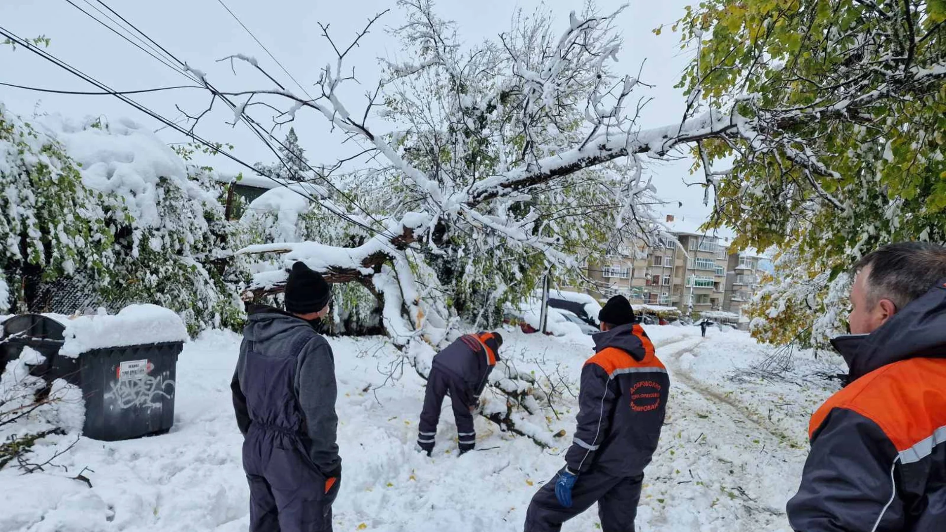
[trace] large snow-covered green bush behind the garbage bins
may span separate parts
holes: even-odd
[[[31,125],[0,112],[9,281],[76,280],[108,306],[176,310],[192,332],[236,323],[236,284],[223,278],[233,229],[211,170],[186,165],[131,121],[41,116]],[[28,308],[30,295],[17,299]]]

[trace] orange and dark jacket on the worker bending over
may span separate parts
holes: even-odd
[[[434,355],[433,368],[446,371],[462,381],[467,396],[457,399],[462,399],[466,405],[474,405],[499,361],[498,351],[492,332],[464,334]]]

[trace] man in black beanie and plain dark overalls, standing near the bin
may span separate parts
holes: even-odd
[[[250,482],[251,532],[332,529],[342,458],[336,443],[335,361],[311,326],[332,292],[303,262],[292,265],[286,310],[253,305],[243,329],[233,391]]]

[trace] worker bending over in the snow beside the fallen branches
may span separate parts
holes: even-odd
[[[417,449],[429,456],[437,436],[437,423],[444,398],[450,396],[453,418],[457,422],[460,454],[476,447],[473,412],[480,404],[480,394],[489,374],[499,361],[502,336],[499,332],[464,334],[433,357],[427,379],[424,410],[420,413]]]

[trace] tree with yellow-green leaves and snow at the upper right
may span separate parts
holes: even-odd
[[[695,150],[713,224],[783,250],[780,284],[754,310],[762,338],[824,346],[843,329],[854,261],[946,240],[944,21],[926,0],[710,0],[678,23],[699,43],[684,79],[694,109],[741,117],[738,134]]]

